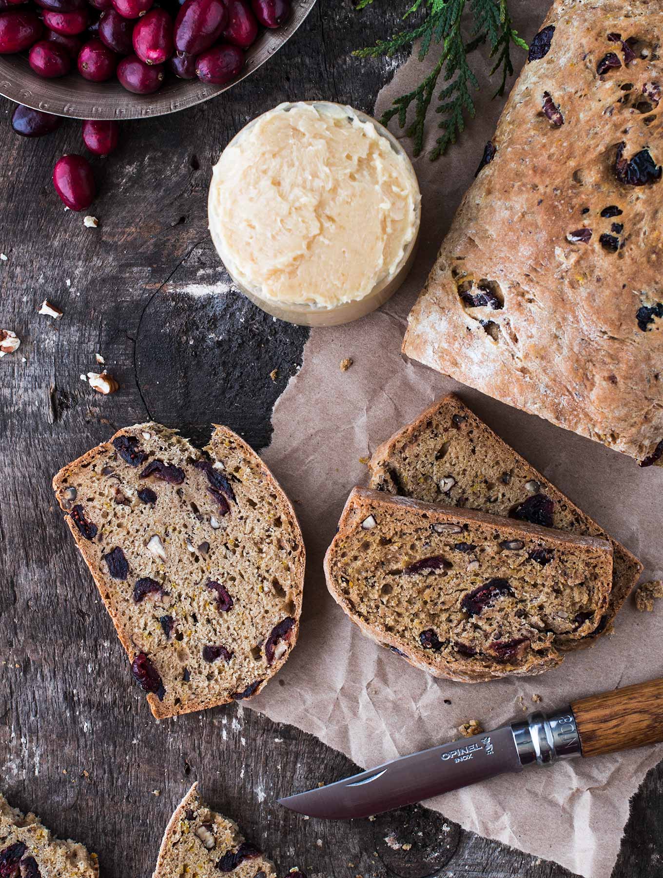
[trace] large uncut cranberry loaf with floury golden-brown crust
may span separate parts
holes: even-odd
[[[663,464],[663,5],[556,0],[410,313],[408,356]]]

